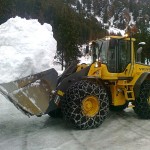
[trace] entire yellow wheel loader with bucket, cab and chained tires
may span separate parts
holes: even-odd
[[[1,84],[0,92],[28,116],[63,116],[78,129],[100,126],[109,109],[122,111],[129,103],[140,118],[150,119],[150,66],[135,59],[134,41],[92,41],[91,64],[74,61],[60,76],[50,69]]]

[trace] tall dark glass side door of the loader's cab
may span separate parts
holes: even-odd
[[[111,39],[108,50],[108,71],[110,73],[124,72],[131,63],[131,49],[129,40]]]

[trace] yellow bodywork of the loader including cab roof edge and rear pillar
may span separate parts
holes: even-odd
[[[130,63],[124,68],[124,71],[112,73],[109,72],[107,64],[102,63],[100,60],[96,60],[93,64],[89,64],[90,70],[88,72],[88,77],[95,77],[104,81],[110,90],[112,105],[121,106],[124,105],[126,101],[135,100],[134,86],[143,73],[150,73],[150,66],[135,62],[134,38],[109,36],[104,39],[107,41],[111,38],[130,41]],[[98,43],[99,41],[101,40],[96,40],[95,42]],[[84,67],[86,67],[85,64],[78,66],[77,71]],[[150,76],[148,77],[150,78]]]

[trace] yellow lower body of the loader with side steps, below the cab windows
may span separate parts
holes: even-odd
[[[135,100],[133,88],[136,81],[144,72],[150,72],[150,66],[135,63],[128,64],[124,72],[121,73],[110,73],[106,64],[101,64],[99,67],[95,66],[95,63],[91,65],[88,76],[109,82],[108,86],[110,87],[114,106],[124,105],[126,101]]]

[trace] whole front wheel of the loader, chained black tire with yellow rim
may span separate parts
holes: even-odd
[[[102,84],[81,80],[69,87],[62,101],[66,120],[78,129],[96,128],[109,111],[109,98]]]

